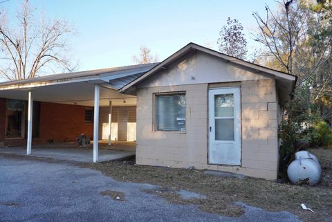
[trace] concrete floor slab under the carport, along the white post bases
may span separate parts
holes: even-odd
[[[0,147],[0,153],[16,154],[26,156],[26,148],[24,147]],[[135,155],[132,150],[116,150],[116,149],[99,149],[98,162],[109,160],[118,160],[122,158],[130,158]],[[92,163],[93,149],[89,148],[33,148],[30,156],[53,158],[56,160],[69,160],[82,163]]]

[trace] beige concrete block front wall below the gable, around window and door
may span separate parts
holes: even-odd
[[[208,84],[190,84],[138,89],[136,163],[194,166],[196,169],[276,179],[278,145],[275,80],[241,82],[241,166],[208,165],[208,88]],[[186,131],[156,131],[155,93],[175,91],[185,91]]]

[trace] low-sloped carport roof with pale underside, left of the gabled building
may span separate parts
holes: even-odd
[[[31,91],[35,101],[93,107],[94,85],[99,84],[100,107],[108,107],[110,101],[113,106],[134,106],[136,96],[119,93],[118,89],[136,80],[154,66],[156,63],[2,82],[0,98],[28,100],[28,91]]]

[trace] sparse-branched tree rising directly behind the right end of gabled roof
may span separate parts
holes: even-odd
[[[276,13],[273,13],[266,5],[265,18],[258,12],[252,14],[259,27],[259,33],[254,36],[254,39],[268,48],[267,56],[275,57],[285,71],[295,74],[293,57],[295,57],[297,46],[306,37],[309,10],[302,10],[300,1],[290,0],[278,3],[279,12]]]

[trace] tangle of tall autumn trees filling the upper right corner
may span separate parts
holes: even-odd
[[[331,10],[315,12],[304,0],[278,4],[277,12],[266,6],[265,17],[253,13],[259,28],[254,39],[266,49],[261,57],[267,66],[298,77],[295,100],[301,100],[311,112],[311,104],[332,95]]]

